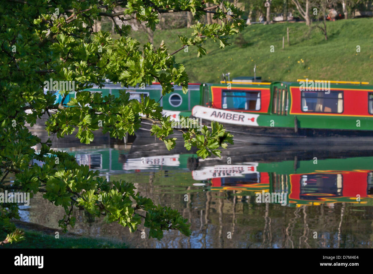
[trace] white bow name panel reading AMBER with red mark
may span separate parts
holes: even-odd
[[[207,119],[220,123],[236,125],[258,126],[258,114],[221,110],[217,108],[202,107],[196,105],[192,109],[192,115],[197,118]]]

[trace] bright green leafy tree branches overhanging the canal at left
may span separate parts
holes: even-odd
[[[214,11],[207,8],[206,3],[216,5]],[[118,222],[131,232],[137,230],[144,219],[143,225],[150,229],[149,237],[161,239],[164,230],[179,230],[189,236],[190,224],[179,212],[154,205],[150,199],[135,193],[132,183],[109,183],[98,176],[98,171],[79,166],[66,152],[50,149],[50,140],[44,143],[32,135],[26,123],[32,127],[38,118],[48,114],[48,134],[63,138],[78,129],[76,138],[90,144],[93,131],[100,127],[111,137],[123,138],[127,132],[132,134],[138,130],[142,120],[150,120],[151,134],[172,149],[176,138],[169,135],[174,129],[170,117],[162,116],[162,107],[156,101],[145,97],[140,103],[130,100],[125,92],[119,97],[103,97],[101,93],[84,89],[93,84],[102,87],[104,79],[128,87],[141,83],[151,85],[155,78],[162,85],[163,95],[173,92],[173,85],[182,86],[186,93],[189,79],[185,67],[176,63],[174,54],[178,51],[169,53],[163,42],[157,48],[147,43],[140,50],[140,43],[129,36],[130,27],[125,24],[119,27],[115,21],[120,38],[113,41],[109,32],[93,32],[94,20],[106,16],[118,17],[124,22],[124,18],[132,18],[146,22],[147,27],[154,30],[160,13],[189,11],[197,23],[191,26],[191,37],[180,37],[181,49],[195,46],[201,57],[206,54],[202,45],[207,39],[219,42],[223,48],[228,45],[229,36],[245,25],[240,18],[242,12],[228,1],[223,2],[225,10],[232,11],[228,23],[203,25],[198,22],[207,10],[214,13],[214,18],[226,18],[219,5],[220,1],[216,0],[2,1],[0,9],[7,13],[0,18],[0,189],[30,192],[30,196],[43,193],[45,199],[65,209],[66,214],[59,221],[65,231],[75,224],[72,212],[76,207],[95,217],[103,215],[106,222]],[[60,88],[62,104],[54,104],[53,92],[43,91],[43,85],[50,79],[74,81],[75,98],[65,104],[69,90]],[[180,130],[185,147],[197,147],[198,155],[203,158],[211,154],[219,156],[220,147],[233,144],[233,136],[215,122],[211,123],[211,130],[206,126],[200,131],[190,126]],[[40,151],[33,148],[37,145]],[[34,160],[44,164],[31,164]],[[12,185],[4,183],[9,173],[15,177]],[[141,211],[146,212],[145,216]],[[18,206],[1,203],[0,214],[0,229],[14,231],[11,220],[19,218]],[[15,232],[6,239],[11,242],[21,236]]]

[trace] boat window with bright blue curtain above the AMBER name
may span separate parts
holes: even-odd
[[[237,110],[260,110],[260,91],[222,91],[222,108]]]

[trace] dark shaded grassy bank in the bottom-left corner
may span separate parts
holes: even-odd
[[[129,248],[125,243],[116,243],[107,239],[67,236],[60,233],[59,239],[54,235],[32,230],[23,230],[25,240],[18,243],[6,244],[1,248]]]

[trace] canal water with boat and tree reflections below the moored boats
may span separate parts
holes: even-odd
[[[128,145],[108,138],[94,145],[74,139],[57,145],[107,180],[132,182],[142,196],[177,209],[191,223],[192,235],[169,231],[162,241],[142,239],[140,232],[94,220],[85,211],[74,211],[76,226],[69,232],[134,248],[373,246],[369,147],[233,145],[222,158],[201,160],[182,144],[167,151],[154,138]],[[64,212],[40,194],[21,207],[20,215],[22,221],[57,228]]]

